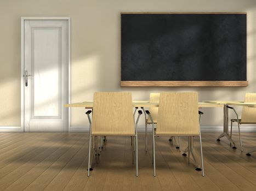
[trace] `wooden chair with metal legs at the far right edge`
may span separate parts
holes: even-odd
[[[246,93],[244,102],[256,103],[256,93]],[[237,112],[234,108],[230,106],[227,106],[227,108],[234,110],[236,114],[236,119],[231,119],[230,137],[232,137],[232,123],[236,122],[238,127],[241,152],[243,152],[242,139],[241,139],[241,133],[240,133],[240,124],[256,124],[256,108],[243,107],[241,119],[238,118]],[[254,151],[255,150],[248,151],[246,155],[251,156],[250,153]]]

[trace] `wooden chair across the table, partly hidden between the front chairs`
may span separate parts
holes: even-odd
[[[159,102],[159,98],[160,98],[160,93],[150,93],[150,97],[149,97],[149,102],[150,103],[158,103]],[[147,125],[148,124],[152,124],[151,120],[149,120],[147,117],[146,117],[146,112],[145,112],[145,109],[143,107],[141,107],[141,109],[143,110],[144,114],[145,114],[145,142],[146,142],[146,151],[147,151]],[[150,114],[153,118],[153,122],[154,124],[157,124],[157,115],[158,115],[158,107],[152,107],[150,108]],[[169,141],[172,141],[174,140],[175,143],[176,143],[176,148],[180,148],[180,137],[179,137],[179,144],[177,144],[176,142],[176,139],[174,137],[171,137],[169,139]],[[172,142],[173,144],[173,142]]]

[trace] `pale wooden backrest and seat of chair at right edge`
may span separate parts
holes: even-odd
[[[246,93],[244,102],[256,103],[256,93]],[[243,107],[242,123],[256,123],[256,108]]]

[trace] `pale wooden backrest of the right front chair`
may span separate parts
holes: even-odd
[[[199,135],[197,92],[161,92],[156,135]]]

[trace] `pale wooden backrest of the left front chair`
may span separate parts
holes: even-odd
[[[130,92],[95,92],[92,135],[134,135]]]

